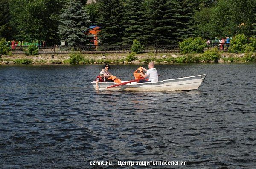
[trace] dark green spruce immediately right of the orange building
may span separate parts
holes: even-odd
[[[96,21],[102,27],[99,32],[100,44],[122,44],[123,4],[121,0],[101,0],[99,7],[100,17]]]

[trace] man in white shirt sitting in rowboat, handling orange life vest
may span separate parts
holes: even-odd
[[[148,70],[141,67],[143,71],[147,72],[146,74],[140,73],[140,76],[143,78],[148,78],[148,80],[141,79],[138,83],[145,83],[145,82],[158,82],[158,74],[156,68],[154,68],[154,62],[151,61],[148,63]]]

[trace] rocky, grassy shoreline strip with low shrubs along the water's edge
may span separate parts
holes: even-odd
[[[209,63],[209,62],[255,62],[255,52],[227,53],[217,49],[205,51],[203,54],[181,53],[106,53],[106,54],[41,54],[41,55],[2,55],[0,64],[140,64],[154,61],[158,64],[173,63]]]

